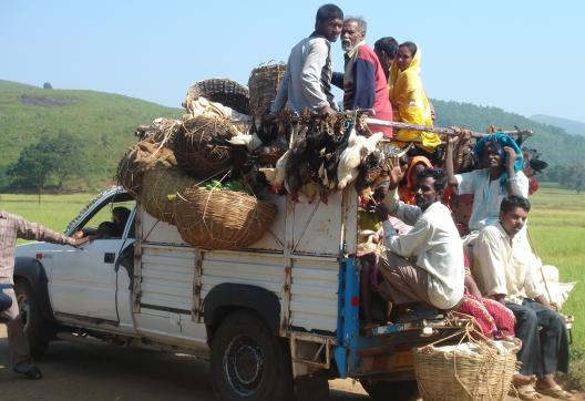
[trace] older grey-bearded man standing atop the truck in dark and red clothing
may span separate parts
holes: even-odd
[[[347,18],[341,30],[345,72],[333,73],[333,84],[343,90],[343,110],[373,109],[376,117],[392,121],[384,70],[378,55],[366,44],[367,23],[357,17]],[[392,128],[371,125],[372,132],[392,137]]]

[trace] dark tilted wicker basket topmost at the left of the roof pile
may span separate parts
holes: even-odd
[[[248,89],[236,81],[214,78],[195,82],[187,90],[183,106],[187,109],[187,104],[199,96],[222,103],[239,113],[249,114]]]

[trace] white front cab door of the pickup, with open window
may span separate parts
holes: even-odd
[[[127,209],[130,216],[134,202],[115,202],[114,196],[104,199],[74,229],[94,239],[79,249],[63,247],[53,253],[49,288],[55,313],[120,320],[115,261],[133,238],[127,238],[131,222],[124,222],[125,229],[112,228],[112,212],[116,207]]]

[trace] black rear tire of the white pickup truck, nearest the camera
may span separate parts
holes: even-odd
[[[220,400],[290,400],[288,347],[255,313],[238,310],[220,323],[212,342],[212,374]]]

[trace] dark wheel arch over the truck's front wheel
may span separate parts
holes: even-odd
[[[27,281],[37,298],[39,309],[45,320],[54,320],[53,309],[49,298],[49,279],[44,266],[31,257],[17,257],[14,259],[14,282]]]

